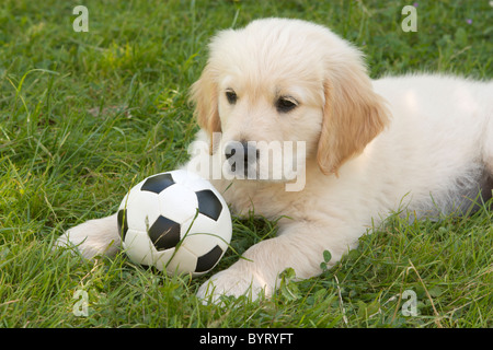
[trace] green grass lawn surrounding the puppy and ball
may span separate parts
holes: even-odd
[[[0,9],[0,327],[492,327],[492,213],[409,224],[399,215],[333,269],[271,300],[202,305],[207,277],[169,278],[125,256],[51,253],[64,230],[113,213],[136,179],[175,168],[197,127],[187,89],[217,30],[262,16],[332,27],[371,77],[408,71],[493,77],[489,1],[416,1],[417,33],[395,1],[7,0]],[[237,220],[238,254],[275,222]],[[238,255],[230,249],[219,268]],[[76,291],[89,295],[77,317]],[[416,294],[417,315],[403,316]],[[237,307],[233,307],[237,306]]]

